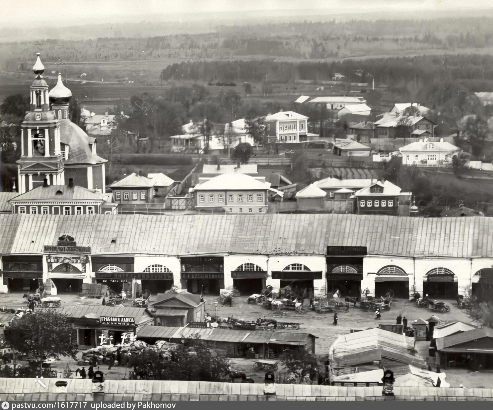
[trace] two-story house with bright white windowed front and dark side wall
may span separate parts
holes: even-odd
[[[264,120],[265,137],[283,143],[299,143],[307,139],[308,117],[294,111],[267,115]]]

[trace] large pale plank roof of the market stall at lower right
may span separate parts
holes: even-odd
[[[413,356],[414,338],[383,329],[368,329],[340,335],[329,349],[331,366],[355,366],[379,362],[383,358],[426,367],[419,356]]]

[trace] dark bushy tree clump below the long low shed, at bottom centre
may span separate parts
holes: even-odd
[[[132,356],[130,366],[144,380],[226,381],[229,363],[200,339],[186,340],[169,358],[147,349]]]

